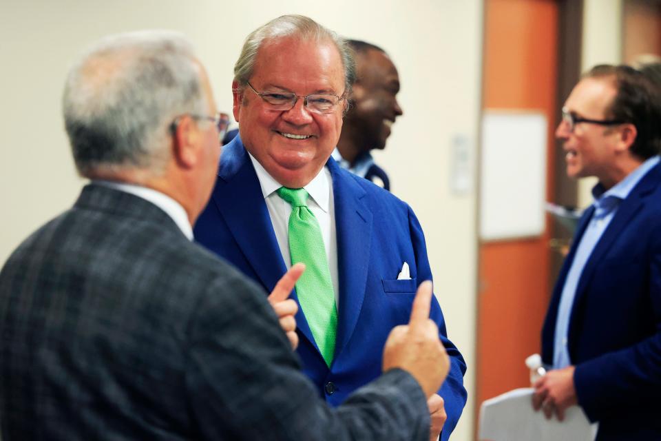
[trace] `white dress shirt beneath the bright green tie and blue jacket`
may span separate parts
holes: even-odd
[[[277,195],[275,192],[282,187],[275,181],[273,176],[266,172],[253,155],[250,160],[253,161],[255,173],[260,180],[262,195],[266,208],[269,209],[271,224],[277,239],[277,245],[280,247],[280,253],[287,269],[291,268],[291,253],[289,252],[289,215],[291,214],[291,205]],[[308,208],[317,218],[319,229],[322,231],[324,247],[326,248],[326,258],[330,269],[330,279],[333,282],[333,292],[335,293],[335,305],[339,307],[339,282],[337,280],[337,236],[335,235],[335,207],[333,205],[333,179],[326,167],[313,178],[308,185],[303,188],[308,192]]]

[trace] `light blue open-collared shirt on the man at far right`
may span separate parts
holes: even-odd
[[[571,365],[569,360],[569,351],[567,349],[567,336],[569,332],[569,319],[571,318],[571,309],[574,307],[574,297],[576,288],[583,274],[583,268],[596,247],[602,234],[606,231],[609,223],[613,220],[618,211],[620,202],[624,201],[633,187],[642,179],[643,176],[659,163],[659,156],[652,156],[647,161],[639,165],[626,178],[605,191],[601,184],[597,184],[592,189],[594,196],[594,214],[585,228],[585,233],[578,243],[574,261],[571,263],[563,292],[560,295],[560,305],[558,306],[558,317],[556,318],[556,333],[554,336],[553,368],[561,369]]]

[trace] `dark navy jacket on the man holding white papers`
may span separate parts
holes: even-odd
[[[560,294],[594,212],[581,218],[542,332],[552,364]],[[576,289],[569,322],[578,404],[598,440],[661,439],[661,165],[620,203]]]

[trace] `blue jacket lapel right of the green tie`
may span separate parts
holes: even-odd
[[[365,191],[352,176],[342,172],[330,158],[326,163],[333,177],[339,308],[335,358],[351,338],[365,298],[370,260],[372,212],[361,198]]]

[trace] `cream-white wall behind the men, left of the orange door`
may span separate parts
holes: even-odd
[[[480,103],[483,1],[99,1],[0,3],[0,263],[25,236],[69,207],[76,177],[60,99],[67,66],[106,34],[169,28],[187,34],[207,65],[218,107],[231,110],[232,66],[246,34],[286,13],[305,14],[348,37],[381,45],[395,61],[404,110],[385,152],[392,187],[426,232],[436,293],[450,338],[468,362],[469,405],[453,440],[472,433],[476,221],[474,176],[450,189],[452,139],[474,152]],[[469,156],[472,170],[474,156]]]

